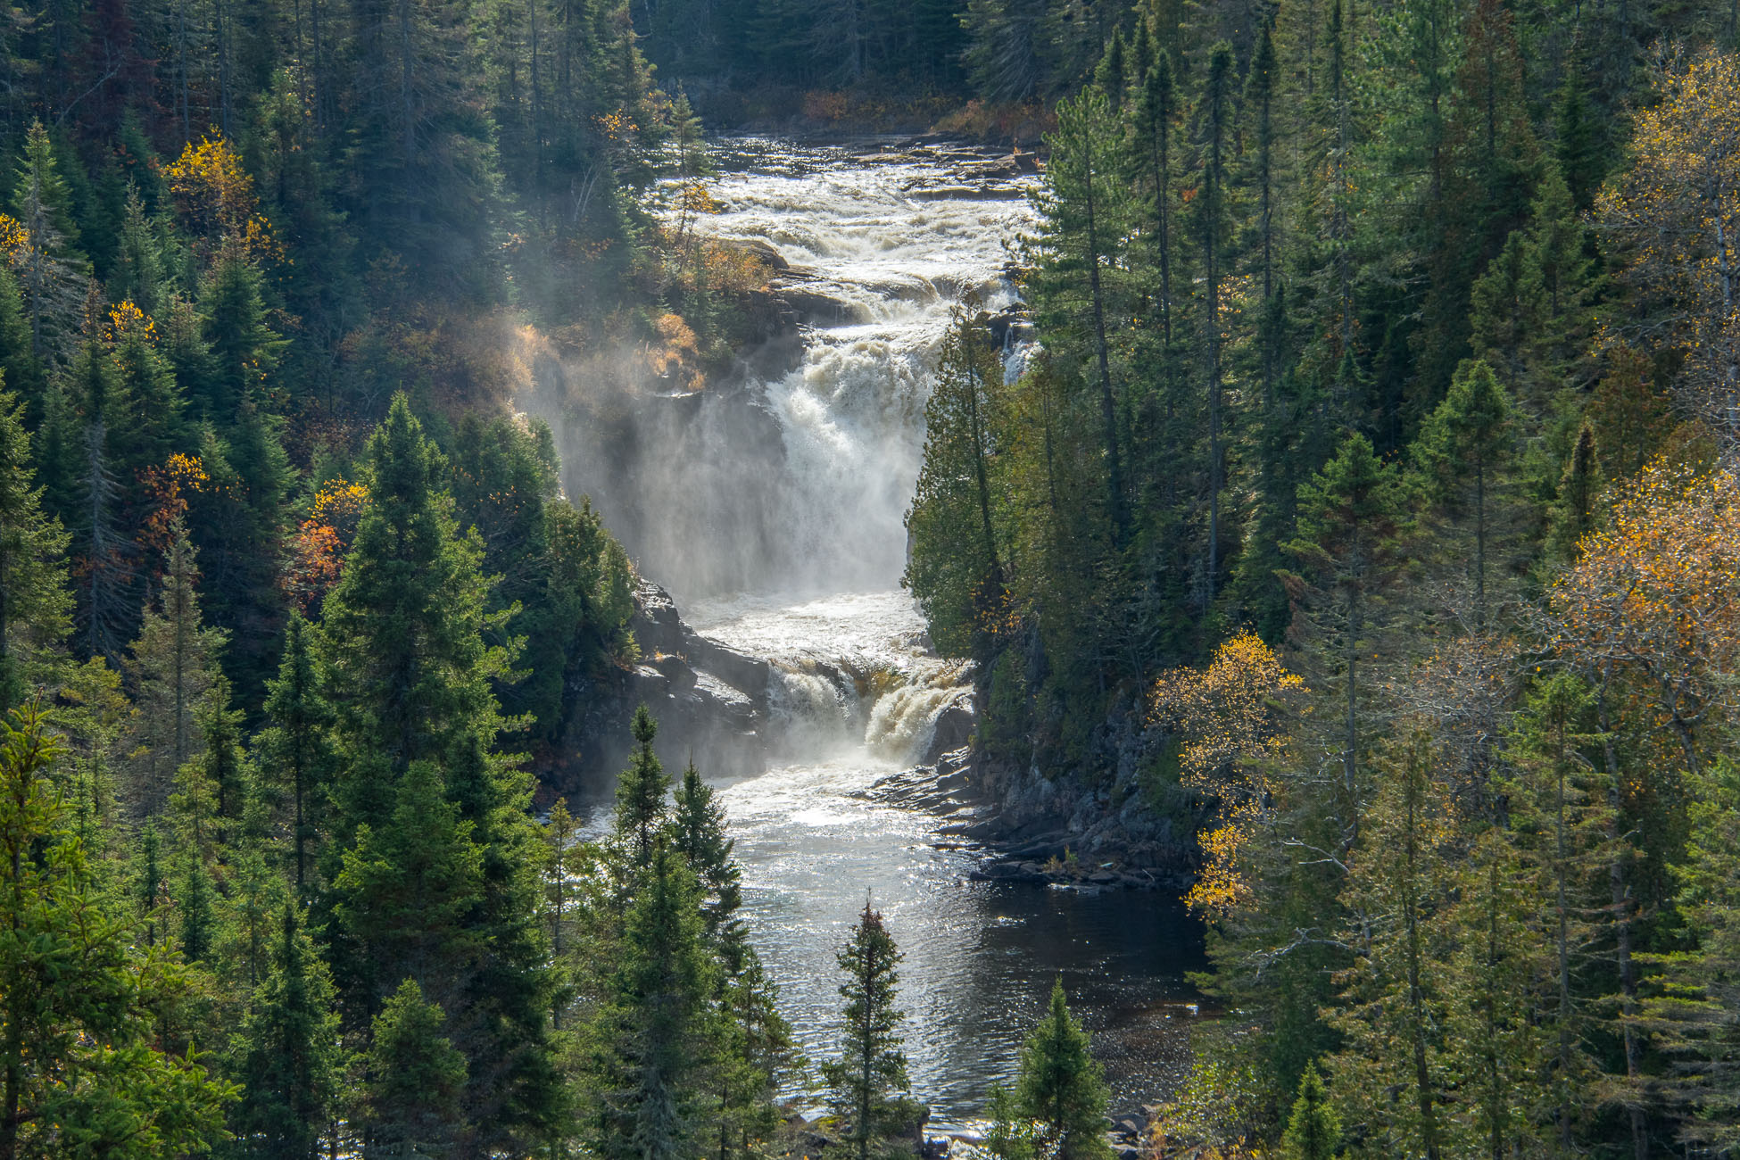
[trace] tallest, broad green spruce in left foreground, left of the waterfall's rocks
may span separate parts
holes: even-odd
[[[365,482],[320,635],[338,760],[324,903],[343,917],[334,979],[360,1030],[381,988],[416,974],[454,1017],[477,1139],[506,1148],[543,1136],[560,1092],[543,1042],[531,786],[496,748],[491,682],[512,657],[485,633],[505,612],[485,610],[480,544],[459,536],[445,463],[404,395],[369,440]],[[402,810],[433,826],[426,843],[405,845]],[[407,859],[444,875],[437,929],[416,913]]]

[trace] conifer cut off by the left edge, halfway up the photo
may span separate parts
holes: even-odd
[[[42,511],[17,397],[0,390],[0,713],[54,678],[68,633],[68,537]]]

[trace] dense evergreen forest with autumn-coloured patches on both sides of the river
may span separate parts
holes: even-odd
[[[708,134],[914,123],[1044,158],[903,584],[990,795],[1188,838],[1141,1151],[1740,1150],[1740,5],[23,0],[0,57],[0,1160],[929,1146],[873,901],[806,1059],[708,755],[642,706],[602,830],[539,781],[646,577],[517,407],[757,341]],[[1061,979],[1030,1031],[960,1146],[1108,1160]]]

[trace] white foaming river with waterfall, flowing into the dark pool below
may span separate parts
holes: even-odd
[[[757,541],[778,567],[752,591],[708,584],[745,574],[706,567],[741,551],[731,520],[682,543],[642,537],[637,555],[698,631],[774,668],[769,769],[719,784],[746,925],[781,1007],[813,1059],[835,1050],[833,957],[868,897],[905,951],[907,1056],[934,1125],[976,1122],[1056,977],[1093,1031],[1114,1106],[1162,1097],[1195,1017],[1183,974],[1201,965],[1176,899],[969,882],[974,854],[940,838],[933,816],[868,795],[914,763],[936,713],[964,694],[900,590],[903,515],[950,308],[966,292],[987,310],[1014,301],[1002,270],[1006,243],[1032,224],[1023,179],[964,181],[962,158],[940,153],[757,139],[722,143],[717,160],[724,209],[705,228],[771,243],[807,271],[807,294],[837,306],[806,329],[800,365],[755,388],[785,445],[778,485],[760,492],[774,530]],[[733,447],[708,454],[729,461]],[[659,483],[693,494],[717,487],[719,468],[672,464]]]

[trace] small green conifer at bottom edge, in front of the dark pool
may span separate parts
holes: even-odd
[[[1041,1157],[1105,1160],[1105,1077],[1088,1050],[1088,1033],[1070,1014],[1063,979],[1051,986],[1051,1009],[1021,1045],[1014,1082],[1016,1115],[1034,1120]]]

